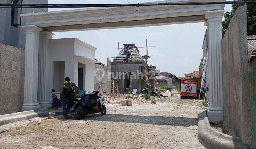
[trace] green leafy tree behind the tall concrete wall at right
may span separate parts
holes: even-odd
[[[242,1],[245,1],[245,0],[242,0]],[[248,0],[248,1],[254,1],[254,0]],[[222,37],[224,36],[226,29],[228,28],[229,23],[232,17],[234,16],[236,9],[239,6],[242,6],[242,5],[232,4],[231,12],[227,11],[224,13],[225,20],[222,21]],[[256,35],[256,3],[247,4],[247,34]]]

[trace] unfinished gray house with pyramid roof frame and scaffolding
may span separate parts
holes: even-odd
[[[148,65],[149,56],[141,56],[135,44],[123,45],[132,48],[128,61],[123,62],[126,55],[121,52],[111,62],[111,78],[117,81],[119,93],[130,93],[130,89],[137,89],[140,93],[146,87],[155,89],[155,66]]]

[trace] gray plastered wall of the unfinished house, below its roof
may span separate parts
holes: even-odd
[[[138,78],[138,72],[140,66],[145,67],[145,70],[148,70],[148,66],[145,62],[112,62],[111,63],[111,78],[118,82],[118,91],[119,93],[123,93],[123,80],[122,80],[122,72],[130,71],[134,72],[136,78],[132,79],[132,89],[136,88],[137,93],[140,93],[142,89],[146,87],[145,82]],[[118,77],[117,77],[118,74]]]

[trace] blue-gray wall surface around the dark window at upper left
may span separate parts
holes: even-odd
[[[11,3],[12,0],[1,0],[1,3]],[[23,0],[23,4],[47,4],[48,0]],[[23,8],[22,14],[47,11],[47,8]],[[0,9],[0,43],[25,49],[25,32],[21,26],[26,25],[21,21],[21,26],[11,26],[11,8]]]

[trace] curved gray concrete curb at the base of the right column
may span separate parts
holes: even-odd
[[[207,149],[249,149],[241,138],[221,133],[210,126],[206,111],[198,114],[198,139]]]

